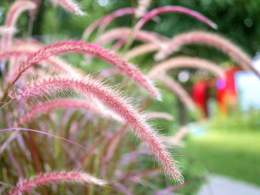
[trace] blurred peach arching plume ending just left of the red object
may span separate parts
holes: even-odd
[[[222,79],[226,78],[225,72],[222,68],[217,66],[216,64],[209,62],[207,60],[202,60],[197,57],[174,57],[169,60],[166,60],[155,67],[153,67],[152,70],[149,71],[148,76],[153,77],[156,75],[164,75],[167,70],[172,68],[200,68],[200,69],[206,69],[216,75],[217,77],[220,77]]]

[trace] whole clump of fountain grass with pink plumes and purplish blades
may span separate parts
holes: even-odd
[[[69,13],[81,17],[85,15],[75,1],[51,0],[51,2],[54,5],[60,4]],[[166,50],[168,55],[172,52],[172,46],[169,44],[174,39],[169,41],[169,38],[155,32],[140,30],[148,20],[156,20],[157,14],[178,12],[192,16],[215,29],[217,26],[200,13],[187,8],[166,6],[149,12],[146,10],[149,4],[150,1],[139,1],[137,9],[122,8],[94,22],[83,33],[83,39],[87,40],[92,31],[100,26],[101,35],[94,43],[63,40],[44,45],[31,38],[32,25],[38,13],[40,1],[21,0],[13,3],[6,16],[5,25],[0,27],[2,73],[0,131],[14,129],[16,131],[11,134],[2,132],[4,136],[0,149],[0,155],[2,155],[0,178],[5,183],[18,184],[11,191],[2,186],[1,192],[30,194],[37,191],[44,195],[51,194],[53,191],[59,191],[61,194],[100,194],[102,192],[104,194],[120,192],[130,194],[142,184],[152,189],[153,193],[160,194],[182,187],[181,185],[170,186],[171,182],[183,184],[181,165],[176,160],[176,154],[170,149],[169,143],[165,141],[164,135],[159,132],[155,124],[149,121],[153,118],[172,120],[172,116],[164,110],[144,112],[144,105],[153,104],[151,98],[154,98],[154,101],[162,100],[160,90],[155,87],[152,80],[160,80],[177,94],[188,109],[194,110],[196,105],[192,98],[177,81],[166,74],[166,71],[170,68],[183,67],[183,63],[187,67],[205,68],[221,77],[224,77],[223,71],[216,64],[205,60],[182,57],[162,62],[157,67],[159,71],[155,68],[149,78],[144,71],[121,56],[126,54],[125,56],[129,58],[137,55],[136,51],[133,52],[134,50],[127,51],[134,40],[148,42],[148,45],[138,48],[141,53],[158,50],[159,53],[165,53]],[[14,38],[14,33],[18,31],[15,26],[18,16],[27,10],[30,16],[27,37]],[[105,27],[114,18],[133,13],[135,13],[135,19],[132,28],[116,28],[103,33]],[[212,39],[216,38],[216,35],[209,34],[207,37],[207,40],[196,42],[212,44]],[[115,54],[99,46],[111,40],[118,40],[113,46],[114,49],[121,51],[120,48],[124,47],[122,53]],[[231,43],[222,39],[223,41],[227,44],[221,45],[220,49],[227,52]],[[79,71],[74,65],[56,56],[68,52],[84,53],[86,60],[90,59],[89,55],[103,59],[117,68],[117,70],[110,70],[106,67],[105,71],[109,73],[109,77],[120,74],[123,75],[122,79],[115,79],[113,83],[99,72],[90,74],[83,70]],[[237,55],[233,55],[234,53]],[[230,55],[240,56],[237,58],[238,61],[250,67],[250,59],[242,53],[242,50],[236,47]],[[174,65],[173,62],[178,63]],[[100,63],[103,62],[98,61],[97,65]],[[94,71],[99,70],[98,67],[95,68]],[[131,85],[125,75],[133,80]],[[137,90],[138,86],[141,86],[150,96]],[[135,97],[131,98],[132,95]],[[140,99],[140,104],[136,103],[136,99]],[[135,137],[125,136],[128,129]],[[52,135],[60,140],[53,140],[46,135]],[[132,139],[136,142],[137,149],[134,144],[131,144]],[[61,140],[67,142],[61,142]],[[148,148],[147,151],[141,149],[137,142],[144,143]],[[79,147],[71,146],[70,143]],[[86,150],[82,151],[81,148]],[[144,153],[152,155],[152,159],[148,159],[146,168],[143,167],[142,159],[124,160],[127,159],[124,155],[134,158]],[[154,161],[157,161],[158,165],[155,165]],[[107,162],[110,165],[107,165]],[[118,164],[126,167],[127,172],[131,174],[125,174],[126,172],[119,168]],[[160,179],[163,187],[159,183],[154,184],[157,180],[156,174],[159,174],[157,168],[169,177],[167,181]],[[8,172],[11,169],[14,169],[15,173]],[[54,172],[73,169],[77,170]],[[79,170],[86,170],[92,175]],[[118,173],[117,170],[123,171],[124,174]],[[31,179],[24,180],[31,176],[33,176]],[[94,185],[84,188],[64,185],[65,187],[60,189],[45,186],[60,182],[89,182],[101,185],[103,188],[96,188]],[[107,182],[111,186],[105,185]],[[34,191],[36,186],[40,189]]]

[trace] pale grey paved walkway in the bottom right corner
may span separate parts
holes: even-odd
[[[208,180],[197,195],[260,195],[259,186],[244,181],[215,174],[209,174]]]

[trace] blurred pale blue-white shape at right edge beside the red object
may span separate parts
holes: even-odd
[[[237,72],[235,85],[242,110],[247,111],[250,107],[260,109],[260,79],[255,73],[251,71]]]

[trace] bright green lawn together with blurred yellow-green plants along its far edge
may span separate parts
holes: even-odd
[[[185,139],[185,152],[207,170],[260,185],[260,112],[218,114]]]

